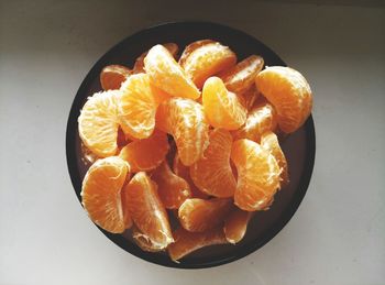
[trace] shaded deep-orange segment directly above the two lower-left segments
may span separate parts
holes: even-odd
[[[119,156],[129,162],[131,172],[146,172],[160,166],[168,150],[167,135],[155,130],[150,138],[133,141],[125,145]]]

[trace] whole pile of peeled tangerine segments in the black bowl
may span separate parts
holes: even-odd
[[[78,118],[92,163],[81,190],[90,219],[174,261],[242,240],[253,212],[289,183],[277,134],[300,128],[312,106],[301,74],[261,56],[238,62],[211,40],[177,55],[176,44],[158,44],[132,69],[105,67],[103,90]]]

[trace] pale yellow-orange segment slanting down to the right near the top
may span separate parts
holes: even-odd
[[[144,67],[152,83],[176,97],[197,99],[200,94],[194,83],[162,45],[155,45],[144,58]]]

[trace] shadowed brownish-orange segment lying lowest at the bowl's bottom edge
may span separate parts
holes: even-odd
[[[168,245],[168,254],[173,261],[178,261],[187,254],[205,246],[228,243],[221,228],[204,231],[190,232],[179,228],[173,232],[175,242]]]

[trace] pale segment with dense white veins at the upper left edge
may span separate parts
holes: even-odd
[[[114,155],[118,151],[119,96],[119,90],[110,90],[88,97],[78,118],[82,143],[99,157]]]

